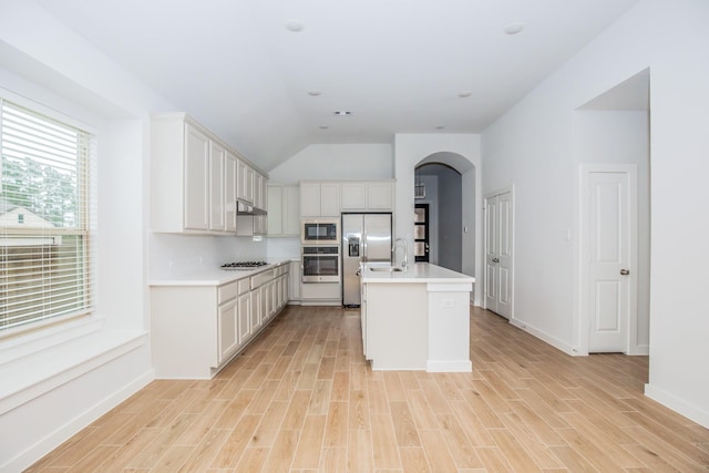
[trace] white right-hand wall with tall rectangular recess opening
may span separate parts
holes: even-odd
[[[515,186],[515,317],[573,352],[574,111],[650,70],[650,379],[646,393],[709,426],[709,2],[646,0],[483,133],[483,192]],[[688,248],[684,255],[678,248]],[[679,256],[679,257],[678,257]]]

